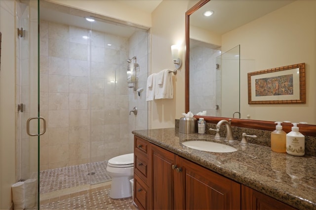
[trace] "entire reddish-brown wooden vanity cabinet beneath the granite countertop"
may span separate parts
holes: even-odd
[[[139,209],[294,210],[137,136],[134,158],[134,201]]]

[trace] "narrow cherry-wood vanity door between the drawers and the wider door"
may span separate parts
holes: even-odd
[[[152,186],[154,210],[174,209],[175,154],[152,145]]]

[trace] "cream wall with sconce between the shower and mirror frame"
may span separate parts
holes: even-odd
[[[184,62],[185,12],[189,1],[164,0],[152,14],[152,73],[174,69],[170,46],[181,43]],[[173,80],[174,98],[152,102],[152,128],[173,127],[185,111],[184,63]]]

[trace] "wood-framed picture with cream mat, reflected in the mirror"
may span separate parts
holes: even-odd
[[[248,73],[248,104],[306,103],[305,63]]]

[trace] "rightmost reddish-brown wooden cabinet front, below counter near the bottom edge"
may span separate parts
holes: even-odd
[[[295,210],[294,208],[245,185],[241,186],[241,195],[241,209],[243,210]]]

